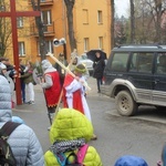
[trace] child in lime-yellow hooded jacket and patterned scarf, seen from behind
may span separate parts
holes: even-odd
[[[69,155],[72,152],[77,154],[79,149],[85,144],[87,148],[84,155],[82,154],[81,163],[86,166],[103,165],[95,147],[89,145],[93,135],[92,123],[79,111],[73,108],[60,110],[49,135],[52,145],[44,154],[45,166],[64,165]],[[71,159],[70,164],[73,164],[72,157],[69,158]]]

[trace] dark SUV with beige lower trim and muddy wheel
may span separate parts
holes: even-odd
[[[101,93],[115,98],[121,115],[134,115],[143,104],[165,107],[166,45],[114,48],[104,79]]]

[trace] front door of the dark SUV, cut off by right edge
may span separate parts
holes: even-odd
[[[166,54],[165,53],[158,53],[156,55],[153,102],[156,105],[166,106]]]

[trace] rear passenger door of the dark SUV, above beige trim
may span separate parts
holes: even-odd
[[[131,55],[127,80],[135,87],[137,102],[152,102],[153,62],[153,52],[133,52]]]

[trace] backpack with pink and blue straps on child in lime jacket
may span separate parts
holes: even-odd
[[[75,154],[74,152],[72,152],[68,157],[65,157],[64,154],[59,154],[56,156],[59,163],[61,164],[61,166],[85,166],[82,164],[86,151],[87,151],[89,145],[85,144],[82,147],[80,147],[77,154]],[[74,157],[74,163],[70,163],[69,159],[70,157]]]

